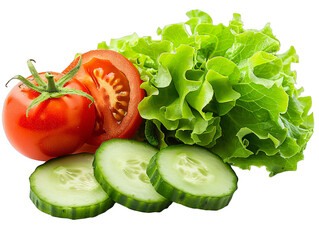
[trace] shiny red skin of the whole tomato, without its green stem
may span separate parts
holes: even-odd
[[[52,73],[58,80],[62,74]],[[43,77],[44,73],[40,74]],[[88,93],[76,79],[64,87]],[[91,101],[79,95],[50,98],[26,110],[39,93],[17,84],[8,94],[3,107],[3,126],[12,146],[21,154],[46,161],[73,153],[91,135],[95,110]]]

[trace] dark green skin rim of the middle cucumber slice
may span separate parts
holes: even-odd
[[[123,139],[112,139],[107,142],[102,143],[104,144],[109,144],[114,141],[122,141]],[[133,141],[133,140],[128,140],[126,141]],[[138,144],[145,144],[148,145],[147,143],[142,143],[138,142]],[[97,180],[97,182],[101,185],[103,190],[107,193],[107,195],[116,203],[119,203],[129,209],[136,210],[139,212],[161,212],[164,209],[168,208],[171,205],[171,201],[165,200],[162,202],[146,202],[142,200],[136,200],[130,196],[127,196],[126,194],[120,193],[118,190],[113,188],[107,179],[104,177],[102,174],[101,169],[99,168],[97,162],[96,156],[99,155],[99,151],[103,150],[102,145],[97,149],[95,153],[95,158],[93,161],[93,170],[94,170],[94,177]]]

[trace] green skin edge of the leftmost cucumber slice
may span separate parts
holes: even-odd
[[[83,207],[61,207],[55,206],[40,199],[33,191],[30,190],[30,199],[33,204],[42,212],[47,213],[53,217],[82,219],[89,217],[96,217],[97,215],[106,212],[113,207],[114,201],[108,198],[106,201]]]

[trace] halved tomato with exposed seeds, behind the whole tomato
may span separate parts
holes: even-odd
[[[82,66],[75,78],[88,88],[96,109],[94,131],[87,143],[98,147],[112,138],[131,138],[142,122],[137,107],[144,90],[138,70],[112,50],[93,50],[81,56]],[[78,61],[76,58],[63,73]]]

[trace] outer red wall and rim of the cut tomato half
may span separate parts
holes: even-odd
[[[87,73],[87,68],[84,66],[89,64],[94,58],[98,60],[101,59],[102,61],[110,61],[118,71],[122,72],[129,82],[131,93],[129,109],[121,124],[116,124],[116,121],[108,111],[109,106],[106,102],[104,103],[104,106],[96,105],[96,109],[102,109],[103,111],[103,120],[107,123],[107,131],[102,134],[93,132],[92,137],[87,141],[88,144],[85,144],[85,148],[83,148],[84,151],[88,152],[94,152],[103,141],[112,138],[133,137],[142,122],[142,118],[138,112],[138,104],[145,96],[144,90],[140,88],[140,85],[143,82],[140,78],[140,74],[127,58],[112,50],[92,50],[82,54],[82,66],[75,77],[88,88],[93,97],[99,98],[99,94],[97,93],[99,90],[96,88],[94,81]],[[78,60],[79,58],[76,58],[63,73],[66,74],[74,68],[78,63]],[[94,65],[92,68],[94,68]],[[95,104],[97,103],[98,101],[95,101]]]

